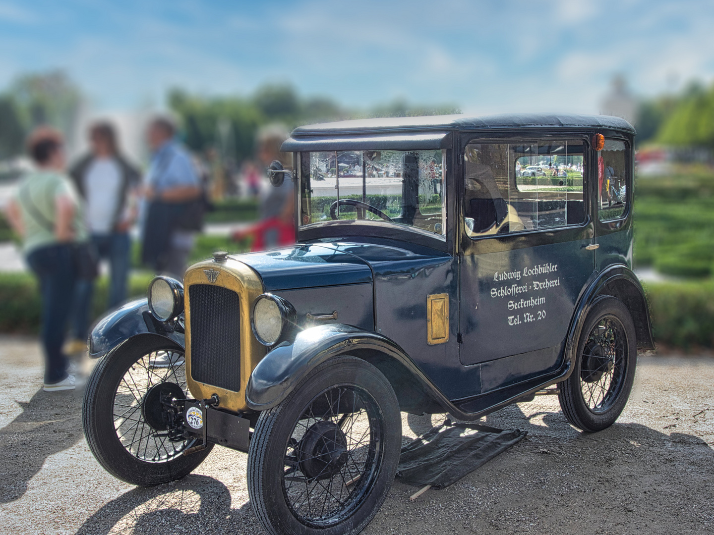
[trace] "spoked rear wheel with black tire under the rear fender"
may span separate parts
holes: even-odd
[[[616,297],[599,297],[585,318],[573,373],[558,400],[570,424],[587,432],[610,427],[623,412],[635,379],[635,324]]]

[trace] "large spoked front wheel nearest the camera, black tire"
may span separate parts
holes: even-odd
[[[258,418],[248,452],[253,511],[274,535],[357,534],[386,499],[400,447],[401,413],[386,377],[358,358],[328,360]]]

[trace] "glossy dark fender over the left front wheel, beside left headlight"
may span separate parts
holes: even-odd
[[[122,342],[146,333],[163,336],[181,347],[186,345],[183,329],[175,322],[156,320],[144,297],[109,312],[96,323],[89,335],[89,356],[96,359],[106,355]]]

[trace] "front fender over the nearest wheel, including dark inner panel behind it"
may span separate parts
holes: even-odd
[[[328,324],[298,333],[268,352],[253,369],[246,404],[263,411],[275,407],[316,367],[331,357],[351,355],[378,367],[391,382],[403,410],[408,405],[453,408],[453,404],[395,342],[351,325]]]

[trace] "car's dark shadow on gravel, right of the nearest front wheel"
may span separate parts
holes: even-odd
[[[418,487],[396,481],[386,502],[388,515],[418,515],[427,507],[440,511],[420,516],[421,532],[461,531],[463,519],[468,532],[514,532],[522,528],[523,515],[532,526],[528,532],[535,533],[578,533],[585,525],[594,526],[593,533],[633,533],[646,526],[662,534],[708,532],[714,525],[714,447],[683,421],[663,429],[660,422],[653,428],[648,422],[618,421],[587,433],[571,427],[555,407],[511,405],[481,422],[527,431],[526,439],[415,502],[408,496]],[[408,422],[415,433],[426,424],[423,417]],[[383,516],[376,521],[388,524]],[[366,533],[383,531],[383,525],[375,526]]]

